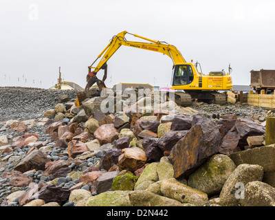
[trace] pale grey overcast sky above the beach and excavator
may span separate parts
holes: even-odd
[[[252,69],[275,69],[274,8],[274,0],[1,0],[0,86],[47,89],[61,67],[64,80],[85,87],[87,67],[124,30],[175,45],[203,74],[231,63],[234,85],[250,85]],[[170,86],[172,66],[168,56],[122,46],[105,83]]]

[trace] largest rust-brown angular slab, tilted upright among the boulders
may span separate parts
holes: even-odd
[[[169,155],[176,179],[188,177],[219,151],[221,134],[217,124],[206,117],[194,117],[193,123],[192,128],[177,142]]]

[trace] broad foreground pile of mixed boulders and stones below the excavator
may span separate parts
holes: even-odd
[[[275,205],[262,124],[146,98],[104,113],[104,99],[58,103],[32,127],[3,124],[1,206]]]

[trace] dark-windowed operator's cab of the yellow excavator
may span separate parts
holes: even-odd
[[[175,65],[173,85],[188,85],[194,80],[194,73],[191,65]]]

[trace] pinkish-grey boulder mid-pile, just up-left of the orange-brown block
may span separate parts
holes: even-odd
[[[96,129],[94,135],[100,144],[108,144],[118,139],[119,133],[113,124],[102,124]]]

